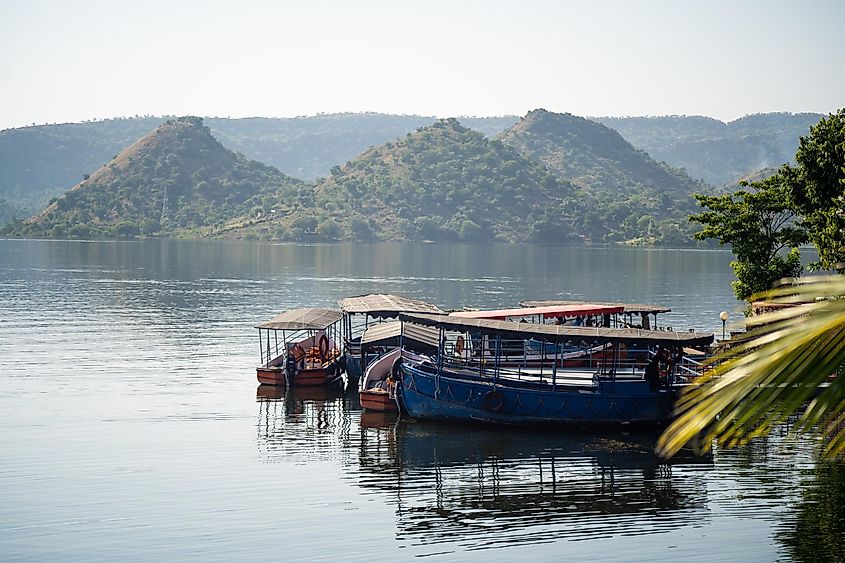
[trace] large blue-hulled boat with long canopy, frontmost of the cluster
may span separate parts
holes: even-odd
[[[406,325],[439,331],[435,354],[402,354],[397,396],[403,415],[415,419],[552,426],[663,424],[670,420],[678,389],[690,372],[682,373],[683,348],[701,348],[713,335],[632,328],[572,327],[513,323],[487,319],[401,314]],[[496,342],[534,339],[552,344],[573,340],[609,346],[598,366],[563,368],[506,366],[455,357],[445,350],[448,335],[468,332]],[[648,363],[621,357],[623,346],[648,350]],[[662,371],[659,371],[662,370]],[[651,374],[656,374],[651,378]],[[651,380],[650,380],[651,379]]]

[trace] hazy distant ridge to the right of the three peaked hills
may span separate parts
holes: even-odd
[[[733,185],[746,174],[792,162],[798,138],[823,116],[765,113],[724,123],[701,116],[600,117],[653,158],[714,186]]]

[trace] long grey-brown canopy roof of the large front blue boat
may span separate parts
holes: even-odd
[[[712,334],[643,330],[640,328],[604,328],[585,326],[514,323],[491,319],[467,319],[451,315],[402,313],[399,320],[406,323],[437,327],[456,332],[481,332],[511,338],[535,338],[547,342],[592,340],[597,342],[637,342],[645,344],[703,347],[713,342]]]

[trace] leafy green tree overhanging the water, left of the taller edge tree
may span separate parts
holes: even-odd
[[[750,191],[722,196],[696,194],[706,211],[689,217],[704,226],[695,234],[697,239],[712,238],[731,245],[736,256],[731,262],[737,278],[733,288],[742,300],[769,289],[781,278],[800,275],[798,246],[807,238],[795,224],[782,177],[772,176],[744,187]]]

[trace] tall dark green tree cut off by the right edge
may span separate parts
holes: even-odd
[[[801,137],[797,166],[781,172],[791,202],[803,217],[820,266],[845,269],[845,108],[822,119]]]

